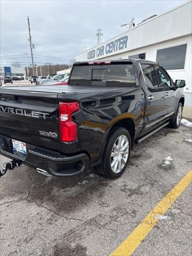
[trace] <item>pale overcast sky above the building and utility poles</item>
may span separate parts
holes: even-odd
[[[161,14],[184,2],[186,0],[1,0],[0,65],[31,62],[27,16],[35,44],[34,62],[68,63],[75,55],[97,44],[98,28],[103,30],[102,42],[105,42],[124,33],[126,28],[120,25],[130,22],[133,17],[137,25],[151,15]]]

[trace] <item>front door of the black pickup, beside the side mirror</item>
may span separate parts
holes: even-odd
[[[174,114],[177,99],[175,99],[175,87],[171,77],[167,74],[164,68],[155,66],[159,87],[164,89],[164,115]]]

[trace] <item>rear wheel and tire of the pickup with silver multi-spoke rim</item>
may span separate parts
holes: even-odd
[[[118,149],[118,142],[120,143],[123,140],[124,147],[128,142],[128,146],[125,148],[125,150],[121,150],[122,152],[126,152],[125,154],[121,153],[121,151],[119,152]],[[122,148],[124,148],[123,146]],[[111,154],[114,154],[115,156],[111,156]],[[95,171],[97,174],[102,175],[105,178],[117,179],[125,171],[127,163],[129,162],[130,154],[131,137],[129,132],[123,127],[116,127],[109,134],[102,162],[95,166]]]

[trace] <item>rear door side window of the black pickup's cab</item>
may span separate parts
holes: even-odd
[[[158,87],[157,76],[153,65],[141,64],[148,87]]]

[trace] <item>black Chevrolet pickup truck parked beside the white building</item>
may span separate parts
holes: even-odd
[[[134,143],[166,125],[178,128],[184,80],[156,62],[76,62],[68,85],[0,89],[0,151],[45,175],[66,177],[90,167],[118,178]],[[0,168],[1,169],[1,168]]]

